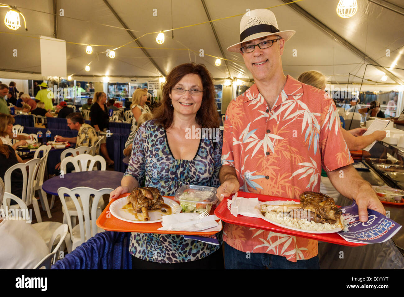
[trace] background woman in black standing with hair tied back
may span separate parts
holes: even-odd
[[[91,126],[95,128],[96,131],[106,132],[109,128],[109,116],[107,105],[105,104],[107,101],[107,94],[104,92],[97,92],[94,94],[93,105],[90,108],[90,118],[91,118]],[[114,161],[109,158],[107,151],[107,138],[103,135],[101,140],[100,150],[107,162],[108,166],[112,166]]]

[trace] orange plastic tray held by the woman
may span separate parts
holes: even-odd
[[[125,193],[119,196],[116,199],[127,197],[130,193]],[[173,196],[164,196],[166,198],[174,200]],[[186,232],[186,231],[165,231],[165,230],[157,230],[161,228],[161,222],[158,223],[149,223],[149,224],[138,224],[138,223],[130,223],[126,221],[122,221],[114,217],[111,212],[109,211],[109,206],[112,202],[116,199],[112,200],[108,203],[107,207],[105,207],[104,211],[98,217],[96,223],[97,226],[107,230],[107,231],[117,231],[117,232],[139,232],[139,233],[157,233],[157,234],[181,234],[181,235],[198,235],[198,236],[209,236],[214,235],[219,231],[212,231],[212,232]],[[210,214],[213,215],[215,213],[215,209],[212,208]],[[107,217],[108,215],[108,217]]]

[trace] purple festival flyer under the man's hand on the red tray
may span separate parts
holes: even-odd
[[[348,222],[348,231],[338,234],[349,242],[380,243],[389,240],[400,230],[401,225],[378,213],[368,209],[368,221],[359,220],[356,202],[341,208],[343,218]]]

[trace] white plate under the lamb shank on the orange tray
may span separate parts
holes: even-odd
[[[167,204],[168,206],[171,207],[171,214],[173,213],[180,213],[181,212],[181,207],[177,202],[174,200],[171,200],[169,198],[163,197],[164,203]],[[111,214],[116,217],[117,219],[120,219],[122,221],[130,222],[130,223],[142,223],[142,224],[148,224],[148,223],[157,223],[161,222],[163,219],[162,217],[167,215],[165,213],[162,213],[158,210],[156,211],[149,211],[149,221],[142,221],[142,213],[137,214],[139,217],[137,218],[133,213],[130,211],[126,211],[122,209],[123,206],[128,204],[128,199],[127,197],[122,197],[114,202],[111,203],[109,206],[109,211],[111,211]]]

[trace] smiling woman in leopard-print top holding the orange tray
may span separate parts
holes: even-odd
[[[215,89],[204,65],[185,63],[166,77],[162,105],[137,131],[128,169],[121,187],[110,200],[131,192],[145,179],[161,195],[174,196],[182,185],[218,187],[221,167],[221,133],[191,137],[189,129],[219,131]],[[221,233],[217,234],[221,243]],[[220,246],[182,235],[133,233],[129,252],[136,268],[222,268]],[[196,261],[198,260],[198,261]],[[169,265],[170,264],[170,265]]]

